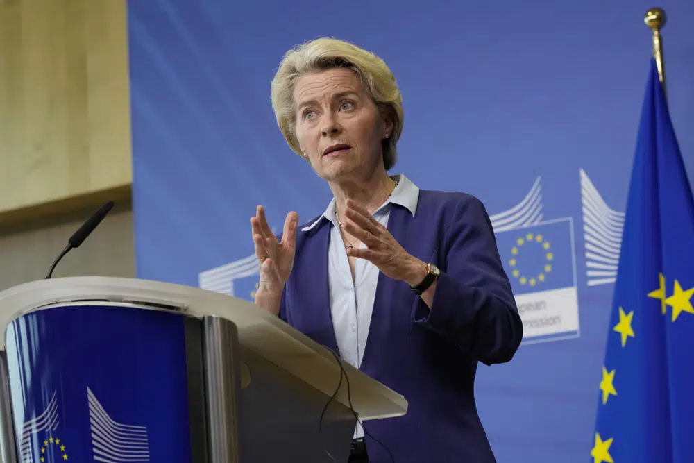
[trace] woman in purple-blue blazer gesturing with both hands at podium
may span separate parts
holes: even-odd
[[[390,461],[373,436],[398,463],[494,462],[475,371],[511,360],[523,325],[484,205],[387,174],[403,106],[372,53],[328,38],[292,49],[272,103],[334,198],[301,228],[287,214],[280,238],[258,206],[255,303],[409,402],[405,416],[366,423],[365,439],[358,426],[350,461]]]

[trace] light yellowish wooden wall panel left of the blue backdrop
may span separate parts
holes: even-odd
[[[0,0],[0,222],[129,200],[129,101],[125,0]]]

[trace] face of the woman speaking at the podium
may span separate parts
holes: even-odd
[[[389,123],[350,69],[328,69],[298,78],[294,87],[296,138],[316,174],[325,180],[358,180],[382,164],[381,140]]]

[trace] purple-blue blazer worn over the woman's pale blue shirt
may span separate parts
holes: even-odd
[[[280,317],[338,353],[328,294],[330,223],[301,228]],[[405,396],[409,407],[405,416],[364,428],[397,463],[495,462],[475,407],[477,362],[509,362],[523,324],[489,215],[469,194],[420,190],[416,215],[393,204],[388,230],[441,276],[430,310],[407,283],[379,273],[361,370]],[[365,437],[369,461],[389,462]]]

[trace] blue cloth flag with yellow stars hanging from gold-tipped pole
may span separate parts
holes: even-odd
[[[594,463],[694,462],[694,200],[651,62],[615,283]]]

